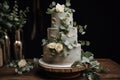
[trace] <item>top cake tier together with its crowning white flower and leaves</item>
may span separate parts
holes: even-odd
[[[73,27],[73,12],[69,6],[59,3],[52,3],[48,8],[48,14],[51,14],[51,27],[68,29]]]

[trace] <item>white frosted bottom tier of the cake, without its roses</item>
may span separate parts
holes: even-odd
[[[58,55],[52,56],[49,48],[44,47],[44,54],[43,54],[43,60],[46,63],[50,64],[72,64],[75,61],[81,60],[81,46],[73,48],[71,50],[67,50],[64,48],[64,53],[66,56],[61,56],[62,53],[59,53]]]

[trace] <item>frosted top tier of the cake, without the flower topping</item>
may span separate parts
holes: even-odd
[[[55,28],[73,27],[73,13],[66,11],[66,12],[52,14],[51,27],[55,27]]]

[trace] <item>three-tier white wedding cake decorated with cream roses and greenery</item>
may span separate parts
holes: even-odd
[[[51,27],[47,28],[47,40],[43,39],[42,60],[45,63],[71,66],[81,60],[81,44],[77,40],[77,27],[73,26],[73,12],[69,2],[50,4],[47,13],[51,14]]]

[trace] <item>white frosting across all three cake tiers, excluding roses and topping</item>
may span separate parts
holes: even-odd
[[[67,30],[68,33],[61,31],[61,28]],[[63,45],[63,51],[60,53],[53,53],[50,48],[46,46],[43,47],[43,61],[49,65],[71,65],[75,61],[81,60],[81,45],[77,41],[77,28],[73,27],[73,13],[59,12],[51,15],[51,28],[47,29],[48,40],[54,42],[54,40],[59,36]],[[67,47],[66,47],[67,46]],[[70,50],[68,50],[70,49]],[[64,54],[64,55],[63,55]]]

